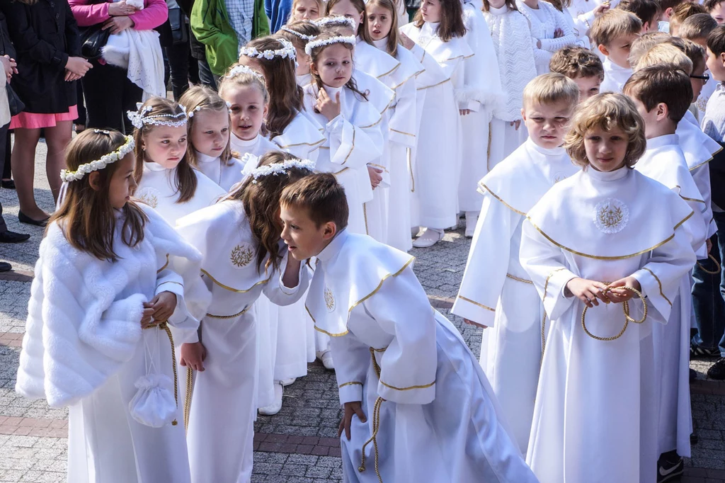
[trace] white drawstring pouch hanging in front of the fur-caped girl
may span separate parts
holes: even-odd
[[[174,398],[174,381],[166,374],[157,371],[154,361],[159,355],[159,338],[162,331],[157,328],[144,331],[144,352],[146,358],[146,375],[136,381],[136,395],[128,403],[131,416],[141,424],[152,428],[162,428],[171,424],[176,418],[176,400]],[[156,350],[152,352],[149,339],[156,339]],[[152,342],[153,344],[153,342]]]

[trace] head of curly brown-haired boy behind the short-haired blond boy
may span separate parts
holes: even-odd
[[[567,46],[554,52],[549,69],[566,75],[579,87],[579,102],[599,94],[604,66],[597,54],[580,46]]]

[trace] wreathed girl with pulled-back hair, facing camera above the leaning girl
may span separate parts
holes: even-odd
[[[261,157],[277,149],[269,139],[262,136],[262,124],[269,110],[269,93],[265,78],[246,65],[235,64],[219,80],[219,96],[229,107],[231,120],[231,152],[244,160],[247,155]],[[237,173],[241,180],[241,173]]]

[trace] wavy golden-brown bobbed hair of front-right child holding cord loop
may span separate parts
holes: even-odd
[[[629,97],[605,92],[589,97],[581,104],[574,114],[568,134],[564,137],[564,148],[575,165],[582,168],[589,165],[584,139],[595,128],[604,131],[620,128],[624,131],[629,140],[624,155],[627,167],[634,166],[642,154],[645,154],[645,121]]]

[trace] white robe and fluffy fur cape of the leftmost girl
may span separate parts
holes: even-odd
[[[57,223],[41,242],[15,390],[46,399],[52,408],[69,407],[69,482],[191,482],[183,399],[178,398],[178,424],[161,428],[136,421],[129,402],[152,363],[153,373],[174,378],[165,331],[141,329],[143,303],[173,292],[177,306],[168,323],[174,335],[194,333],[199,321],[191,316],[195,304],[185,292],[200,294],[196,306],[202,309],[209,294],[197,276],[199,252],[154,210],[142,209],[149,220],[136,247],[123,243],[123,215],[118,216],[115,263],[71,247]],[[175,271],[180,262],[188,270]]]

